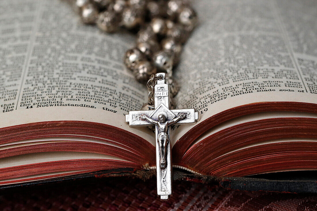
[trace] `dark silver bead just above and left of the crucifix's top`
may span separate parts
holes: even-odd
[[[133,70],[135,78],[142,82],[149,80],[152,74],[156,73],[156,68],[149,61],[139,61]]]

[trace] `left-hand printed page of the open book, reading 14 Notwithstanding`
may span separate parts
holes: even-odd
[[[0,19],[0,127],[81,120],[152,140],[147,128],[125,123],[147,101],[146,86],[123,65],[132,33],[85,25],[61,0],[2,0]]]

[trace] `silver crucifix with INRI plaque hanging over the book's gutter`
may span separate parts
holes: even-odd
[[[155,125],[157,193],[167,200],[172,194],[172,163],[170,125],[195,124],[198,121],[196,109],[170,110],[170,87],[166,83],[165,73],[156,74],[154,85],[154,107],[149,110],[130,111],[126,122],[130,126]]]

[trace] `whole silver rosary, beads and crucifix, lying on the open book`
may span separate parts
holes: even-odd
[[[136,80],[146,82],[148,103],[141,111],[126,114],[130,126],[155,126],[157,193],[167,200],[172,194],[170,125],[195,124],[198,112],[173,109],[179,86],[172,77],[191,31],[196,12],[188,0],[71,0],[87,24],[113,33],[120,27],[138,30],[137,46],[124,55],[124,64]],[[160,73],[157,73],[157,71]],[[171,108],[171,109],[170,109]]]

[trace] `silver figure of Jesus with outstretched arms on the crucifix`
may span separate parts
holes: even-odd
[[[169,142],[168,140],[168,135],[167,135],[167,130],[168,127],[176,122],[178,122],[181,119],[184,119],[186,117],[185,114],[180,114],[178,115],[178,117],[175,117],[173,119],[171,119],[170,121],[166,121],[166,117],[164,114],[159,114],[158,119],[159,121],[155,121],[151,118],[148,118],[146,115],[142,115],[141,118],[142,119],[146,119],[148,122],[158,126],[159,129],[159,136],[158,136],[158,140],[157,142],[159,142],[159,146],[160,146],[160,150],[159,150],[159,154],[160,154],[160,163],[161,163],[161,168],[165,168],[166,167],[166,148],[167,148],[167,144]]]

